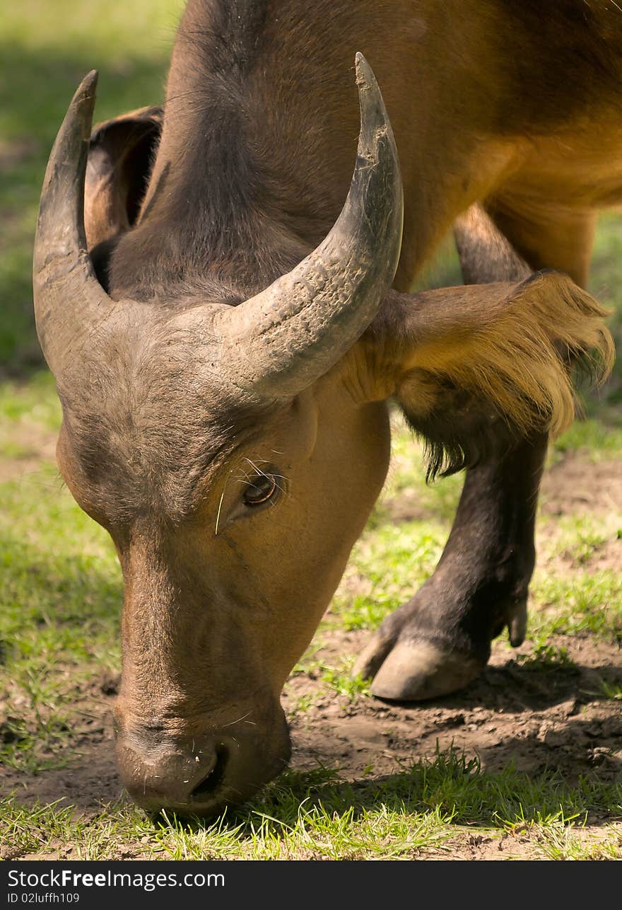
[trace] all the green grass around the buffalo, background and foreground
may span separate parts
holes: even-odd
[[[38,348],[30,268],[45,160],[75,86],[96,66],[96,118],[156,103],[181,0],[23,0],[0,13],[0,763],[25,777],[73,763],[81,735],[79,700],[102,672],[120,664],[122,587],[114,548],[72,501],[49,445],[60,410]],[[444,247],[426,276],[459,282],[456,255]],[[590,288],[614,314],[622,340],[622,221],[602,219]],[[557,440],[551,464],[622,459],[622,359],[605,389],[587,397],[587,419]],[[39,458],[47,448],[44,460]],[[49,451],[48,451],[49,450]],[[326,656],[336,629],[376,629],[434,570],[456,510],[461,477],[426,486],[420,450],[396,420],[386,490],[356,544],[336,598],[292,676],[316,681],[291,712],[317,698],[345,710],[369,702],[350,675],[353,654]],[[395,502],[406,510],[396,517]],[[568,637],[622,641],[619,566],[594,559],[622,532],[622,516],[543,517],[541,564],[533,585],[529,638],[518,659],[535,672],[573,672]],[[564,636],[563,642],[557,636]],[[595,682],[597,697],[618,703],[617,682]],[[77,700],[77,704],[76,704]],[[598,829],[597,819],[607,816]],[[25,805],[19,792],[0,804],[4,854],[65,850],[84,859],[396,858],[452,855],[468,837],[527,838],[537,858],[622,856],[619,786],[551,773],[482,768],[456,751],[439,753],[356,783],[335,768],[286,772],[244,809],[214,824],[154,822],[121,801],[96,812],[61,804]],[[514,843],[512,841],[512,843]],[[512,851],[510,850],[510,855]]]

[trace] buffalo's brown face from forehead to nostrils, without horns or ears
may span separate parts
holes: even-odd
[[[279,694],[382,487],[386,406],[353,407],[327,378],[225,422],[215,390],[194,388],[191,333],[171,376],[170,349],[124,323],[101,346],[118,351],[114,373],[89,363],[92,410],[61,389],[58,460],[123,567],[125,786],[147,809],[209,814],[289,757]]]

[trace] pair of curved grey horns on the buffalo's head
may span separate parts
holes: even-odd
[[[35,237],[37,334],[56,378],[115,307],[86,250],[84,187],[95,106],[95,70],[75,92],[45,171]],[[397,268],[402,181],[393,131],[376,78],[356,55],[361,128],[356,167],[340,216],[296,268],[215,328],[236,388],[253,398],[295,395],[339,360],[374,319]]]

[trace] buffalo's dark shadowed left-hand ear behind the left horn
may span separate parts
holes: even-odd
[[[115,240],[135,224],[162,128],[161,107],[106,120],[91,133],[85,179],[86,243],[97,277]]]

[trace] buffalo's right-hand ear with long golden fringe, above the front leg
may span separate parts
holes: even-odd
[[[607,315],[552,271],[518,283],[392,291],[363,339],[364,363],[426,440],[428,476],[451,473],[534,431],[557,435],[569,425],[568,353],[605,379],[614,359]]]

